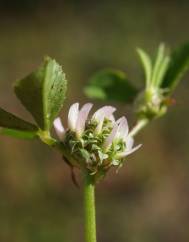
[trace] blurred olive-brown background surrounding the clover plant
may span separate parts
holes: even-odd
[[[83,87],[100,68],[122,69],[141,86],[135,48],[153,53],[162,41],[170,47],[188,41],[188,13],[184,0],[1,0],[0,105],[32,120],[12,84],[44,55],[60,62],[69,80],[64,121],[71,103],[87,101]],[[175,99],[165,117],[138,135],[143,147],[118,175],[112,171],[97,186],[99,241],[189,241],[189,75]],[[114,105],[117,117],[126,114],[133,125],[132,109]],[[82,188],[58,152],[0,137],[1,242],[82,242],[82,206]]]

